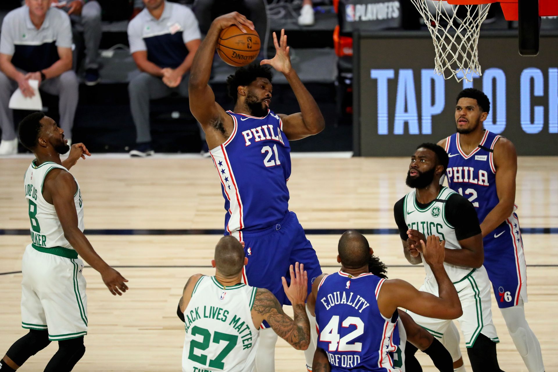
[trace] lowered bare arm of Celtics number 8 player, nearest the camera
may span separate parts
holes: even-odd
[[[74,177],[69,172],[62,169],[53,169],[45,177],[43,195],[47,202],[52,199],[66,240],[86,263],[99,271],[110,293],[122,295],[120,291],[126,292],[128,286],[124,282],[128,282],[128,280],[103,261],[84,233],[79,230],[78,213],[75,210],[74,203],[76,187]]]

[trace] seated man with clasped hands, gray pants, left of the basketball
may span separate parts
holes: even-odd
[[[198,21],[187,7],[165,0],[143,0],[145,9],[128,25],[130,53],[141,71],[128,85],[136,125],[131,156],[153,154],[149,101],[177,92],[188,96],[189,71],[201,43]]]

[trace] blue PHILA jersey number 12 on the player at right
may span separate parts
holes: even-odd
[[[493,149],[500,137],[502,136],[485,130],[479,146],[469,155],[461,150],[459,133],[446,139],[445,150],[449,156],[446,170],[448,185],[473,203],[481,223],[499,202]]]

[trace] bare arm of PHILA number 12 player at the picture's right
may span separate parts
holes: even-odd
[[[494,145],[494,166],[496,166],[498,204],[480,224],[483,237],[511,216],[516,202],[517,152],[516,147],[508,139],[501,137]]]

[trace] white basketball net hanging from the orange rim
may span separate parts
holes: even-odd
[[[450,5],[446,1],[411,0],[424,18],[435,51],[435,71],[445,79],[460,82],[482,75],[478,41],[480,25],[488,15],[490,4]]]

